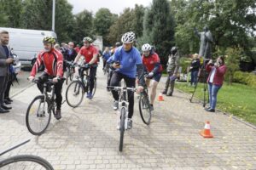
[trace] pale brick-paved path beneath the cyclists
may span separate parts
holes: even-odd
[[[39,137],[28,133],[25,123],[27,105],[38,89],[32,86],[16,95],[13,111],[0,115],[0,150],[32,141],[3,157],[38,155],[55,169],[256,169],[256,130],[222,113],[208,113],[177,91],[155,103],[150,126],[143,124],[135,106],[133,128],[125,133],[120,153],[113,99],[105,90],[101,68],[97,74],[95,98],[84,99],[76,109],[64,104],[61,121],[53,118]],[[213,139],[199,135],[207,120]]]

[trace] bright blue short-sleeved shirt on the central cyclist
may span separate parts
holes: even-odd
[[[113,54],[113,61],[119,62],[121,65],[121,68],[116,71],[131,78],[136,77],[137,65],[143,64],[141,54],[135,47],[132,47],[128,52],[122,46],[117,48]]]

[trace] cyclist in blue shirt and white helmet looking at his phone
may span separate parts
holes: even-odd
[[[136,75],[139,77],[139,87],[137,93],[143,91],[145,83],[143,78],[143,61],[141,54],[137,48],[133,47],[135,41],[135,34],[133,32],[126,32],[122,37],[123,46],[117,48],[113,54],[113,71],[110,86],[119,86],[119,82],[124,79],[126,86],[135,88]],[[113,110],[118,110],[119,107],[119,94],[117,91],[112,90],[113,94]],[[133,116],[134,94],[128,92],[129,101],[129,115],[128,115],[128,129],[132,127],[131,117]]]

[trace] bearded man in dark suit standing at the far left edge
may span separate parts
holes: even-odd
[[[9,44],[9,32],[0,31],[0,114],[8,113],[12,108],[4,105],[4,92],[8,85],[10,75],[9,67],[15,59],[11,56]]]

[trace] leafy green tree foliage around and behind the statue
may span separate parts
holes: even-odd
[[[256,31],[254,0],[172,0],[172,13],[177,27],[175,39],[184,54],[198,53],[199,40],[193,28],[202,30],[208,26],[214,39],[213,51],[217,48],[241,47],[248,50],[253,47],[250,38]]]

